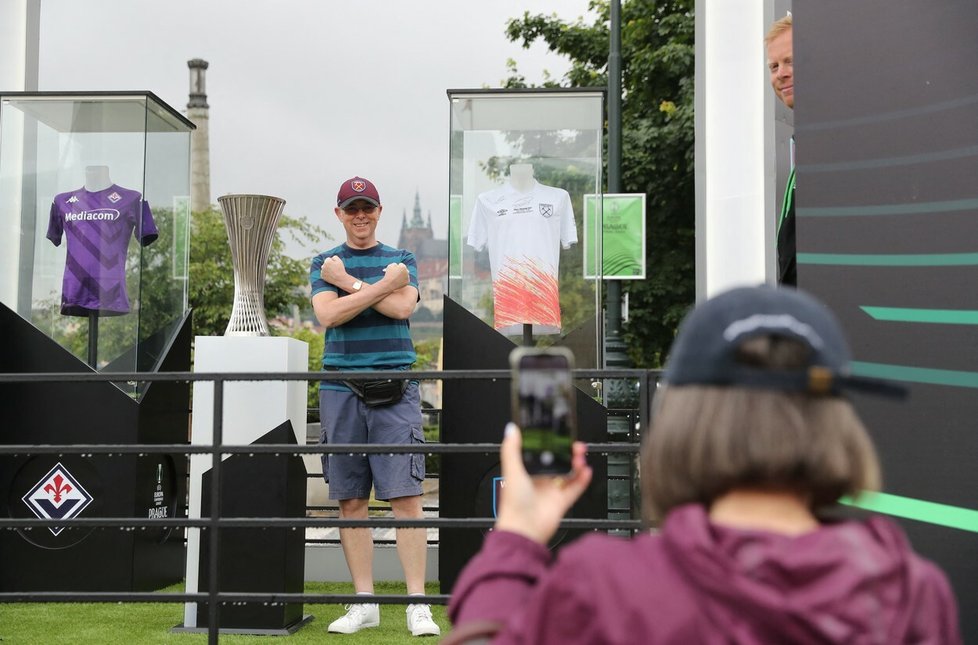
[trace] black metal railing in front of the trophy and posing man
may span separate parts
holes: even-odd
[[[637,410],[615,410],[615,414],[625,414],[629,418],[632,430],[624,441],[594,442],[588,444],[588,452],[601,455],[621,455],[634,457],[638,453],[639,428],[648,425],[648,411],[656,383],[660,376],[658,370],[637,369],[579,369],[574,370],[575,379],[590,379],[603,381],[606,379],[632,379],[637,382],[639,403]],[[72,519],[32,519],[32,518],[0,518],[0,530],[30,530],[49,527],[95,527],[102,529],[146,530],[165,528],[199,528],[207,531],[209,549],[208,590],[193,593],[163,593],[163,592],[61,592],[61,591],[8,591],[0,593],[0,603],[12,602],[95,602],[95,603],[140,603],[140,602],[170,602],[170,603],[208,603],[208,636],[210,643],[216,643],[220,624],[219,608],[222,603],[260,602],[269,604],[279,603],[353,603],[362,600],[355,594],[314,594],[314,593],[242,593],[219,590],[219,531],[225,528],[479,528],[493,526],[492,518],[439,518],[426,517],[421,519],[397,519],[393,517],[370,517],[367,519],[343,519],[339,517],[303,517],[303,518],[249,518],[223,517],[221,514],[220,482],[221,464],[224,455],[234,454],[273,454],[273,455],[305,455],[305,454],[403,454],[425,453],[440,454],[495,454],[499,443],[426,443],[412,444],[251,444],[225,445],[223,433],[224,388],[228,382],[241,381],[322,381],[322,380],[367,380],[367,379],[416,379],[416,380],[508,380],[511,373],[508,370],[446,370],[446,371],[372,371],[372,372],[234,372],[234,373],[0,373],[0,386],[9,383],[89,383],[89,382],[212,382],[214,385],[212,413],[212,443],[201,445],[192,443],[139,443],[139,444],[0,444],[0,455],[33,456],[33,455],[77,455],[77,456],[122,456],[122,455],[153,455],[153,454],[183,454],[211,456],[211,484],[206,493],[209,495],[210,512],[205,518],[135,518],[135,517],[89,517]],[[612,411],[609,410],[609,413]],[[315,473],[309,477],[321,476]],[[636,476],[634,470],[625,475],[611,475],[610,478],[631,480]],[[307,506],[307,515],[308,515]],[[641,522],[634,514],[635,504],[629,507],[609,507],[614,514],[630,513],[625,519],[609,518],[566,518],[561,522],[561,529],[585,529],[598,531],[617,531],[634,533],[641,529]],[[427,510],[434,510],[429,508]],[[447,604],[447,594],[428,594],[422,598],[406,594],[377,595],[371,602],[379,604],[409,604],[422,601],[431,604]]]

